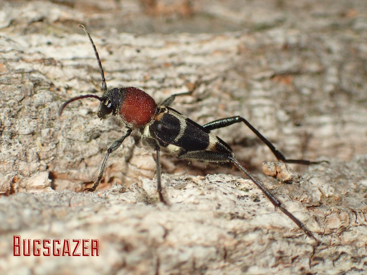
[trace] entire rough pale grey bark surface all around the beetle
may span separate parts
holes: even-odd
[[[11,194],[0,198],[1,273],[366,272],[365,2],[101,2],[98,12],[99,1],[0,3],[0,192]],[[241,115],[287,157],[330,161],[292,166],[297,172],[264,164],[272,179],[260,167],[275,157],[244,124],[215,131],[321,245],[237,172],[163,155],[170,206],[157,203],[154,154],[137,133],[110,155],[99,188],[108,191],[72,192],[96,179],[106,148],[125,131],[100,121],[93,99],[57,115],[73,96],[101,95],[79,23],[108,88],[138,87],[160,102],[201,77],[174,109],[200,124]],[[13,257],[15,234],[98,238],[101,256]]]

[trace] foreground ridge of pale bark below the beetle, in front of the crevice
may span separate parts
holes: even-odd
[[[260,177],[319,246],[250,180],[232,175],[164,175],[168,206],[157,202],[149,179],[96,194],[1,197],[1,273],[363,274],[366,164],[360,156],[310,167],[303,176],[280,169],[293,174],[292,184]],[[100,256],[14,257],[13,235],[98,239]]]

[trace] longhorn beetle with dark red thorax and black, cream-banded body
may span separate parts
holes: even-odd
[[[304,159],[287,159],[284,155],[278,151],[272,143],[269,142],[264,136],[261,135],[247,120],[243,117],[228,117],[209,122],[203,126],[185,117],[178,111],[168,107],[176,96],[189,95],[193,92],[192,89],[189,92],[171,95],[159,105],[156,104],[154,99],[146,94],[141,89],[135,87],[113,88],[108,90],[106,85],[105,76],[102,69],[101,60],[97,49],[93,43],[93,40],[88,33],[86,27],[80,25],[84,32],[87,34],[90,43],[94,49],[94,54],[97,58],[99,71],[102,76],[102,89],[103,95],[99,97],[97,95],[82,95],[69,99],[59,109],[59,115],[62,114],[66,105],[69,103],[84,99],[84,98],[96,98],[101,103],[97,111],[99,118],[108,118],[115,115],[121,122],[124,123],[127,131],[124,136],[115,140],[107,149],[105,158],[102,161],[101,168],[99,169],[98,178],[94,182],[91,188],[86,188],[84,191],[95,191],[98,187],[103,170],[105,170],[106,162],[109,155],[120,147],[121,143],[128,137],[133,129],[138,129],[142,135],[142,143],[145,146],[149,146],[156,152],[157,163],[157,191],[161,202],[166,203],[161,193],[161,170],[160,170],[160,149],[164,148],[173,155],[176,155],[178,159],[193,159],[198,161],[210,162],[217,165],[226,167],[238,168],[245,173],[270,202],[279,208],[284,214],[286,214],[292,221],[294,221],[309,237],[315,239],[315,236],[304,226],[304,224],[293,216],[287,209],[281,206],[281,202],[267,190],[254,176],[252,176],[235,158],[232,149],[219,137],[215,136],[210,131],[226,127],[237,122],[244,122],[273,152],[276,158],[280,161],[287,163],[297,164],[319,164],[323,161],[308,161]],[[196,83],[197,84],[197,83]]]

